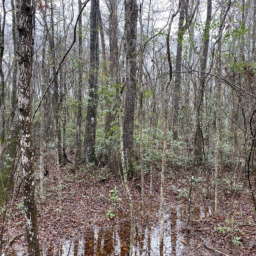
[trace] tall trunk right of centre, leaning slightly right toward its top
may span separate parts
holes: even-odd
[[[203,50],[202,56],[200,58],[200,78],[199,78],[199,89],[197,92],[197,105],[196,105],[196,130],[195,130],[195,162],[199,163],[202,161],[202,150],[203,150],[203,132],[202,132],[202,108],[203,108],[203,97],[204,97],[204,87],[207,74],[206,64],[209,48],[209,39],[210,39],[210,25],[211,25],[211,0],[207,0],[207,16],[206,16],[206,25],[204,27],[203,34]]]

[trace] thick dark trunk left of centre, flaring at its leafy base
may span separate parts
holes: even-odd
[[[84,135],[84,162],[95,161],[95,134],[97,125],[98,68],[99,68],[99,0],[91,1],[90,12],[90,75],[89,99]]]

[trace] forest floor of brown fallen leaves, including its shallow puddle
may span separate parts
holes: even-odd
[[[52,158],[53,159],[53,158]],[[51,159],[48,159],[49,162]],[[95,166],[61,167],[61,206],[54,163],[45,177],[46,203],[38,200],[39,239],[44,256],[126,256],[129,252],[130,218],[121,178],[113,176],[113,166],[97,170]],[[187,204],[190,173],[182,168],[168,168],[165,179],[165,237],[163,255],[256,255],[256,214],[245,174],[236,185],[230,184],[230,171],[219,177],[219,214],[214,216],[214,182],[210,171],[197,170],[193,187],[190,231],[187,231]],[[242,177],[243,176],[243,177]],[[209,178],[208,178],[209,177]],[[212,178],[213,179],[213,178]],[[36,184],[39,186],[39,168]],[[143,222],[140,203],[140,177],[129,179],[135,208],[134,255],[159,255],[160,178],[146,174],[147,220]],[[118,200],[110,219],[106,213],[116,186]],[[111,194],[110,194],[111,193]],[[110,194],[110,196],[109,196]],[[9,203],[8,203],[9,204]],[[6,244],[3,236],[3,250]],[[22,193],[18,194],[11,224],[8,255],[26,255],[25,217]]]

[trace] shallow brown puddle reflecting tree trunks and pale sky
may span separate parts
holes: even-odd
[[[198,211],[198,212],[197,212]],[[204,218],[209,215],[208,208],[198,208],[194,214]],[[177,207],[176,211],[165,212],[165,234],[163,256],[184,255],[184,247],[190,244],[187,241],[182,227],[183,217],[186,215],[184,207]],[[157,214],[156,214],[157,215]],[[134,256],[159,256],[160,223],[140,226],[136,223],[134,235]],[[130,223],[123,223],[109,228],[99,229],[95,226],[88,229],[82,238],[66,240],[61,244],[48,243],[42,245],[43,256],[127,256],[129,255]],[[9,255],[25,255],[22,248],[11,246]]]

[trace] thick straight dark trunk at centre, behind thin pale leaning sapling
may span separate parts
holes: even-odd
[[[138,7],[136,0],[128,0],[125,8],[127,22],[126,30],[126,58],[127,76],[125,81],[125,105],[124,105],[124,156],[129,173],[133,168],[133,128],[136,97],[136,37]]]

